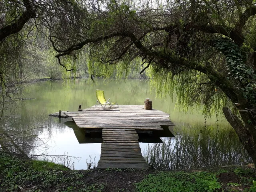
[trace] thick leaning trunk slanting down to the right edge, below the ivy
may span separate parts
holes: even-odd
[[[236,131],[242,145],[251,156],[254,165],[256,165],[256,141],[254,140],[252,134],[250,134],[246,125],[232,114],[229,108],[224,107],[222,110],[226,119]]]

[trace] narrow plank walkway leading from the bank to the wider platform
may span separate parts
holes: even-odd
[[[103,129],[98,168],[148,169],[134,129]]]

